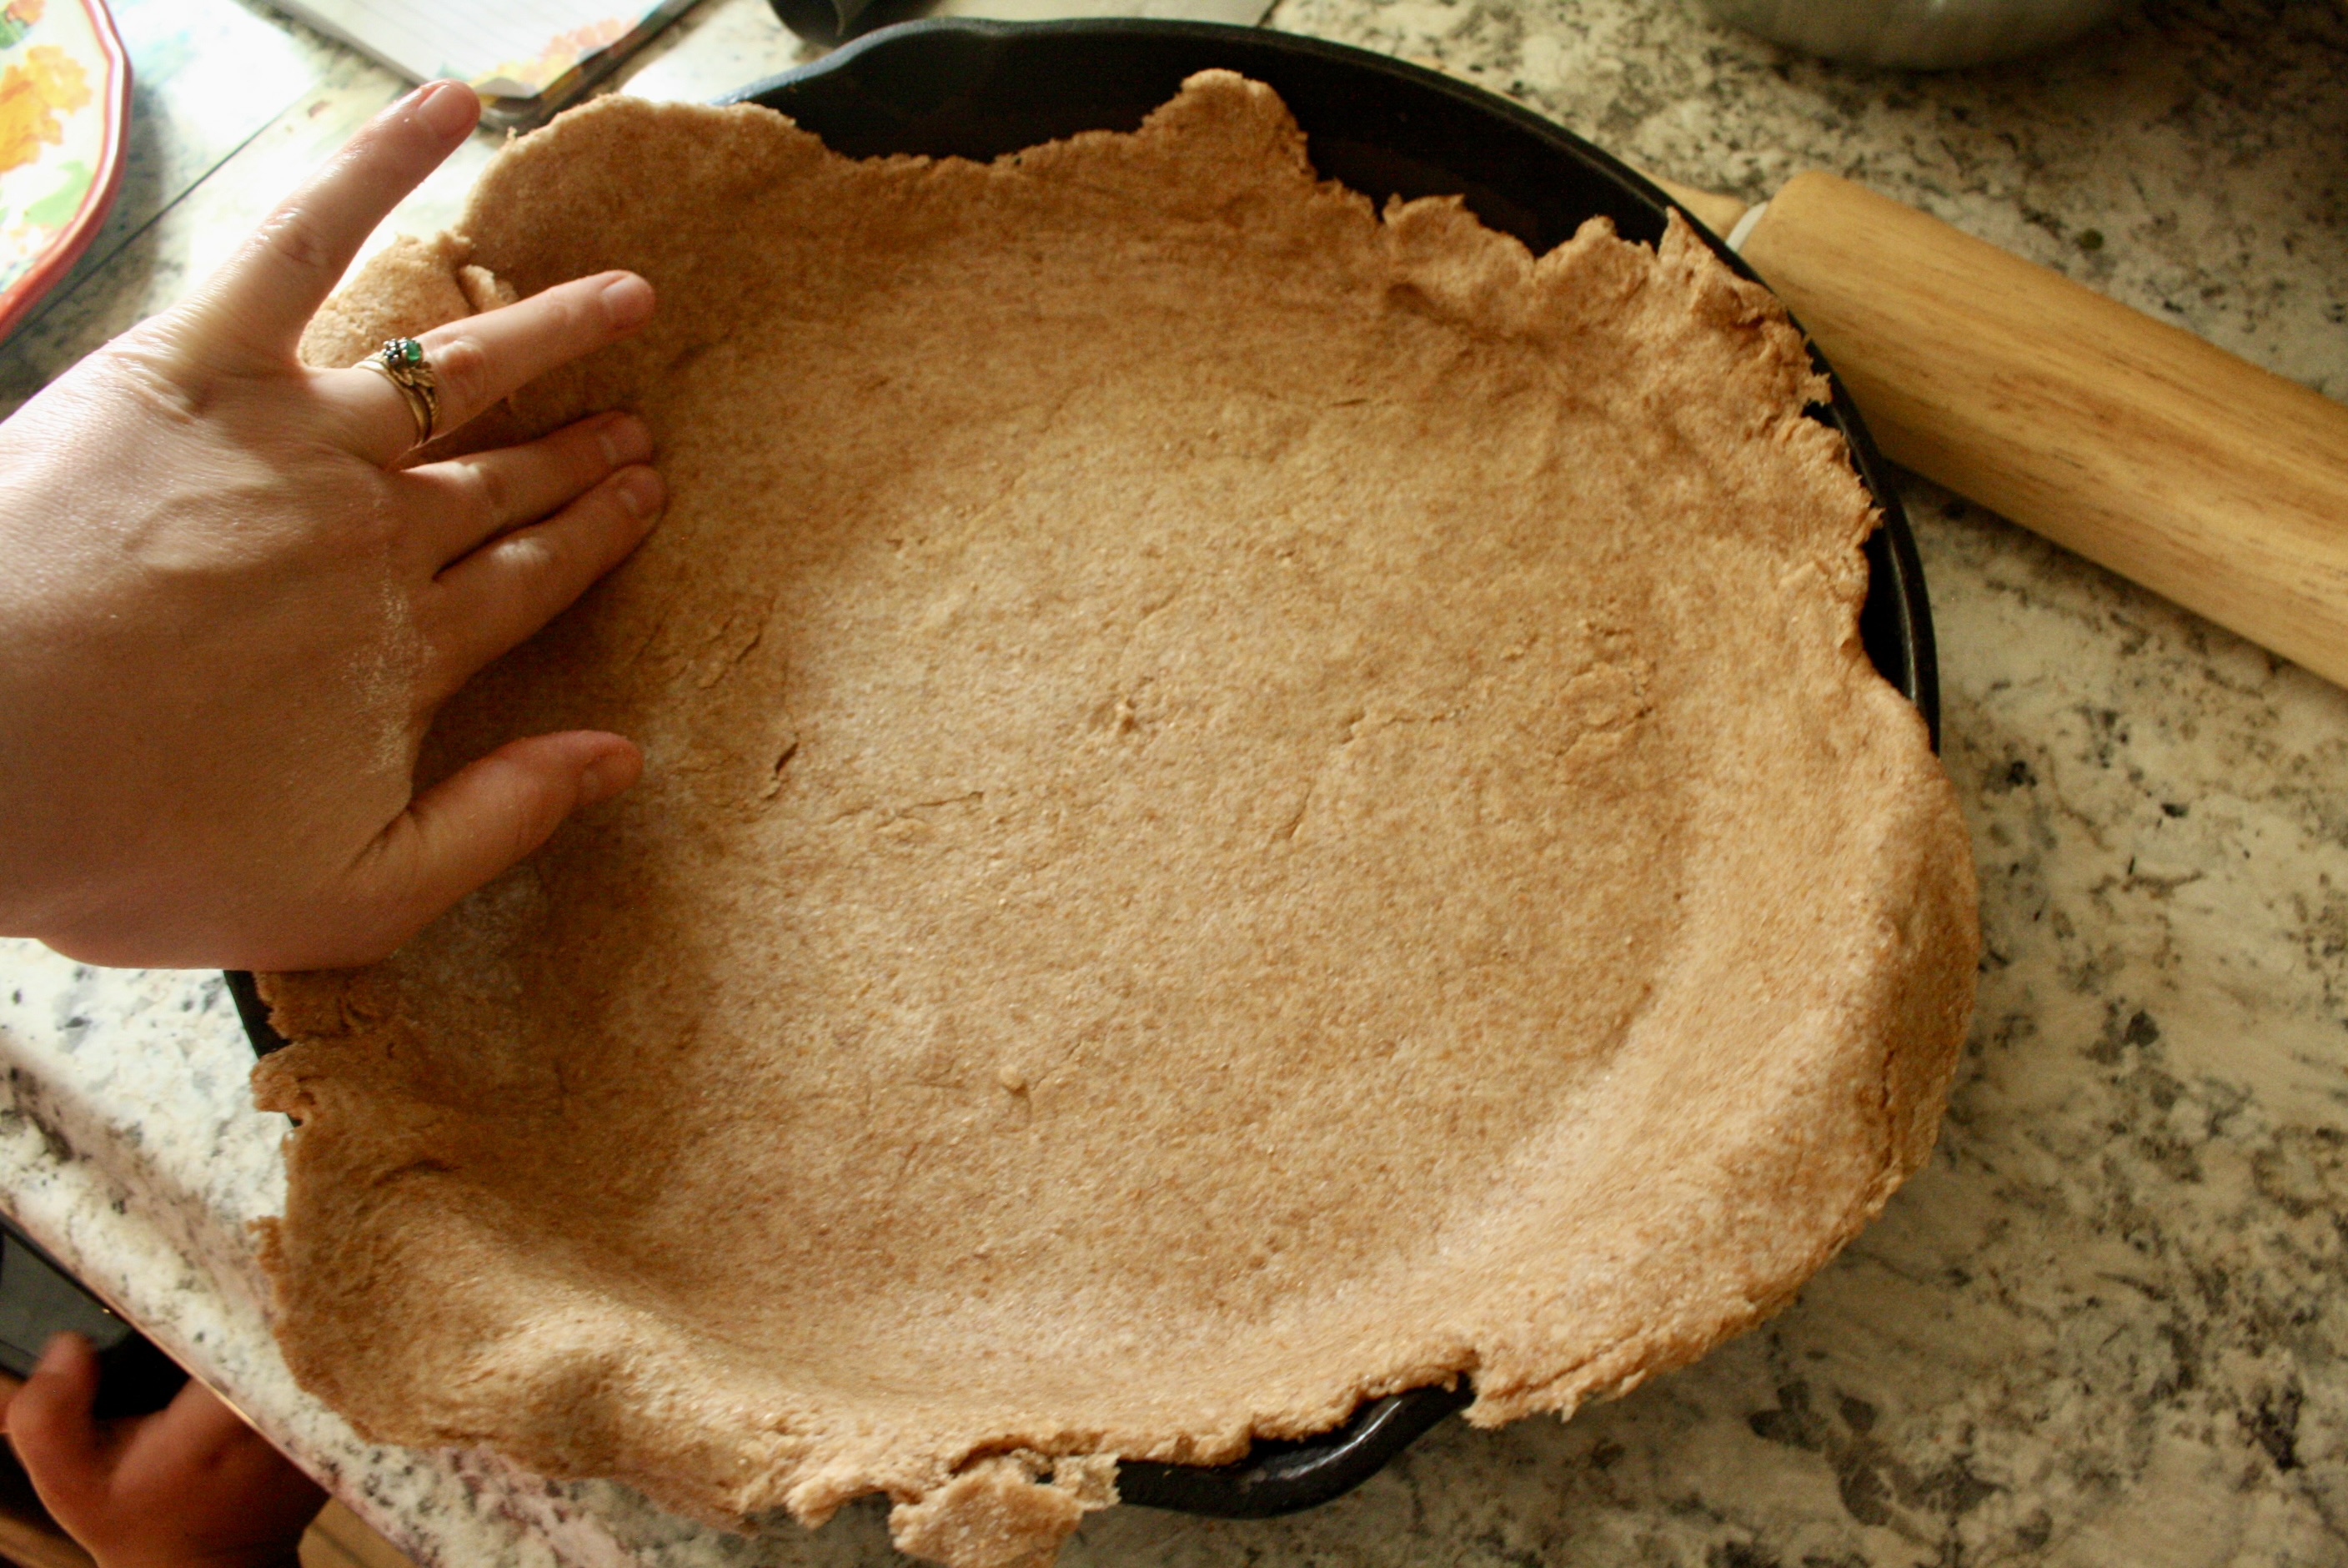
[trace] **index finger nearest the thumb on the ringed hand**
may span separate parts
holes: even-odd
[[[425,601],[425,636],[446,692],[561,615],[653,528],[667,491],[625,467],[542,523],[517,528],[451,566]]]

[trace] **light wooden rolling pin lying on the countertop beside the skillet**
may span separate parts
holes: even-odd
[[[1895,462],[2348,685],[2348,406],[1831,174],[1742,228]]]

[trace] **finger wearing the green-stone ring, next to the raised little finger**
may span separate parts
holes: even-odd
[[[439,390],[432,427],[463,427],[554,366],[618,343],[650,315],[653,284],[634,272],[599,272],[434,326],[423,336],[425,364]],[[345,411],[355,448],[373,462],[390,467],[416,446],[416,415],[387,378],[373,371],[324,371],[312,385]]]

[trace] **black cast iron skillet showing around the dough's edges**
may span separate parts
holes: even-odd
[[[777,108],[855,157],[986,160],[1075,131],[1129,131],[1186,75],[1212,66],[1275,87],[1310,138],[1313,167],[1378,202],[1463,195],[1484,223],[1536,254],[1599,214],[1627,239],[1662,239],[1669,197],[1580,136],[1432,70],[1289,33],[1136,19],[911,21],[728,101]],[[1728,246],[1712,239],[1712,249],[1740,277],[1754,277]],[[1900,493],[1841,383],[1813,415],[1843,432],[1860,479],[1883,509],[1883,526],[1867,542],[1871,575],[1860,613],[1867,657],[1923,711],[1939,746],[1932,620]],[[254,1047],[284,1045],[251,976],[230,974],[228,984]],[[1336,1432],[1256,1444],[1237,1465],[1216,1469],[1120,1465],[1118,1495],[1223,1519],[1289,1514],[1352,1491],[1470,1399],[1465,1380],[1390,1394]]]

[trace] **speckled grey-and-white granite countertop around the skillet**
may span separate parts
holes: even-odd
[[[169,28],[242,40],[242,99],[155,96],[171,73],[143,66],[124,211],[0,350],[9,404],[176,298],[397,94],[230,0],[120,9],[134,52],[139,28],[150,52]],[[2153,2],[1958,75],[1803,61],[1684,0],[1280,0],[1270,21],[1442,63],[1747,200],[1855,176],[2348,397],[2334,5]],[[711,0],[632,89],[709,96],[805,56],[758,0]],[[446,221],[488,150],[397,223]],[[1986,939],[1930,1167],[1796,1305],[1618,1404],[1446,1422],[1284,1521],[1097,1514],[1071,1568],[2348,1563],[2348,695],[1923,481],[1904,495]],[[890,1561],[876,1505],[747,1542],[618,1486],[373,1448],[294,1390],[244,1230],[279,1207],[282,1124],[247,1103],[218,976],[0,944],[0,1059],[7,1207],[420,1563]]]

